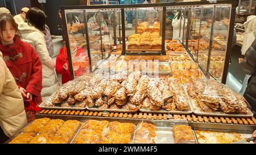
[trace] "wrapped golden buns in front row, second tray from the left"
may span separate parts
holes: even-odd
[[[132,143],[135,125],[107,120],[87,120],[73,140],[76,144],[127,144]]]

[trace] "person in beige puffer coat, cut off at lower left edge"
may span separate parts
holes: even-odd
[[[22,95],[0,52],[0,143],[27,124]]]

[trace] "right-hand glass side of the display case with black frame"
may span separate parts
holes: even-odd
[[[189,17],[188,26],[184,24],[183,30],[180,30],[184,32],[184,47],[198,62],[205,76],[225,83],[234,26],[230,21],[230,17],[234,16],[232,6],[187,7],[185,12]]]

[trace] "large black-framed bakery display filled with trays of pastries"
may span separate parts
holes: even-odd
[[[75,38],[76,35],[83,35],[85,38],[81,48],[88,55],[91,73],[84,73],[69,81],[40,104],[42,110],[36,117],[50,119],[40,123],[42,128],[47,126],[47,132],[41,133],[38,125],[31,123],[32,129],[23,129],[19,132],[21,134],[11,139],[11,143],[36,143],[38,135],[49,137],[45,143],[211,143],[209,136],[222,134],[212,132],[213,129],[227,135],[232,131],[238,135],[243,132],[252,133],[256,129],[256,119],[246,100],[222,84],[225,83],[224,73],[229,61],[232,38],[230,30],[233,28],[233,11],[236,5],[234,1],[205,1],[62,7],[63,16],[67,14],[64,22],[69,21],[69,14],[84,15],[84,23],[88,23],[93,16],[96,18],[95,23],[84,24],[85,31],[79,28],[75,34]],[[183,21],[187,20],[187,26],[184,25],[179,40],[164,37],[161,28],[168,26],[163,24],[164,19],[145,21],[144,13],[141,12],[146,14],[145,10],[148,9],[158,10],[158,15],[172,10],[183,12]],[[217,12],[224,10],[228,10],[229,20],[217,17]],[[134,14],[136,12],[137,18],[126,22],[126,11],[134,11]],[[97,21],[101,20],[97,20],[97,16],[101,17],[101,14],[107,27],[104,27],[103,21],[97,27]],[[166,54],[138,56],[137,51],[131,51],[137,52],[136,55],[127,55],[126,49],[138,48],[135,44],[131,46],[130,41],[139,43],[141,40],[154,41],[157,38],[152,37],[156,34],[152,31],[157,22],[160,23],[157,36],[158,39],[164,37],[161,48],[164,45]],[[82,20],[80,23],[83,23]],[[220,24],[221,27],[218,27]],[[73,25],[72,23],[65,34],[68,38],[68,52],[71,52],[70,38],[74,35],[72,29],[76,30]],[[87,31],[88,26],[93,27],[93,31]],[[214,26],[220,30],[216,30]],[[105,44],[106,47],[110,45],[110,53],[106,53],[108,50],[105,49]],[[148,49],[145,47],[142,50]],[[71,53],[68,55],[71,58]],[[96,62],[95,67],[92,62]],[[158,68],[158,74],[151,72],[153,68]],[[221,70],[222,79],[216,79],[222,81],[213,78],[212,70]],[[67,122],[68,120],[72,121]],[[79,120],[79,123],[73,120]],[[65,127],[64,124],[67,123],[72,123],[75,127],[67,137],[60,137],[67,131],[67,127],[71,127]],[[52,131],[53,128],[58,130]],[[102,134],[104,128],[106,132]],[[26,141],[20,142],[20,137],[23,136]],[[214,143],[218,142],[217,139],[218,137]],[[228,142],[241,139],[244,137]]]

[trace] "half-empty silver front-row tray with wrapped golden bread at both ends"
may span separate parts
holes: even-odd
[[[181,134],[181,137],[175,137],[173,128],[179,126],[189,129],[182,131],[186,135]],[[196,143],[195,134],[184,120],[141,120],[137,123],[133,137],[134,143],[143,144]]]

